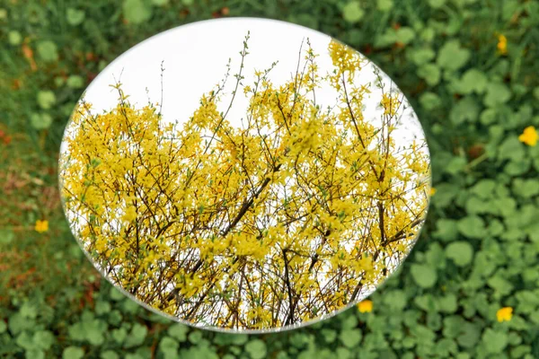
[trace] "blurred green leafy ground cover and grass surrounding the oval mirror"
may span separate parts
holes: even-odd
[[[518,141],[539,127],[539,1],[0,6],[0,356],[539,357],[539,146]],[[437,193],[420,241],[372,295],[371,313],[353,308],[250,336],[172,324],[111,289],[68,230],[57,153],[85,86],[137,42],[223,14],[297,22],[345,41],[393,78],[420,117]],[[38,219],[48,232],[33,231]],[[500,323],[506,306],[513,318]]]

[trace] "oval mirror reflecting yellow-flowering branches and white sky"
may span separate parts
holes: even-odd
[[[395,84],[286,22],[165,31],[105,68],[61,148],[66,218],[113,285],[190,325],[295,328],[376,290],[429,204]]]

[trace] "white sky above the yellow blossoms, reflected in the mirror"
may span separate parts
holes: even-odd
[[[152,102],[161,102],[161,63],[163,61],[163,119],[178,120],[183,123],[199,107],[203,93],[215,88],[225,76],[226,64],[231,58],[231,73],[225,87],[225,96],[219,104],[220,110],[228,106],[235,83],[234,74],[239,69],[243,39],[251,31],[248,41],[249,55],[245,59],[244,84],[252,84],[255,69],[263,70],[278,60],[271,71],[270,79],[275,84],[289,80],[296,72],[298,51],[305,39],[309,38],[316,57],[320,74],[332,70],[327,47],[331,38],[321,32],[288,22],[259,18],[228,18],[190,23],[169,31],[164,31],[130,48],[116,58],[99,74],[85,92],[85,100],[93,104],[94,112],[109,110],[118,103],[118,92],[109,85],[119,80],[123,91],[131,103],[144,106],[148,96]],[[303,57],[302,54],[302,65]],[[364,116],[367,119],[380,118],[381,109],[376,109],[381,99],[381,91],[375,86],[376,76],[372,63],[365,66],[357,76],[357,85],[372,83],[372,100],[365,101]],[[389,89],[391,79],[381,73]],[[115,80],[116,79],[116,80]],[[393,83],[393,88],[396,85]],[[147,92],[146,92],[147,88]],[[241,89],[241,88],[240,88]],[[333,106],[336,92],[329,86],[316,91],[316,101]],[[245,116],[247,99],[239,91],[234,105],[227,116],[231,125],[241,126],[240,118]],[[402,126],[393,132],[397,144],[406,144],[412,138],[424,139],[423,131],[411,107],[402,110]],[[400,139],[398,137],[401,137]]]

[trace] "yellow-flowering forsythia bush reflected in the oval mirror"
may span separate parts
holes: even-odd
[[[248,38],[247,38],[248,39]],[[362,299],[411,249],[428,205],[426,144],[395,144],[402,94],[383,90],[381,127],[363,116],[363,57],[331,41],[320,74],[310,44],[293,79],[270,69],[234,96],[223,84],[179,125],[159,104],[79,102],[61,157],[72,230],[110,280],[142,302],[198,325],[276,328]],[[323,83],[339,96],[324,109]],[[240,89],[240,87],[242,87]]]

